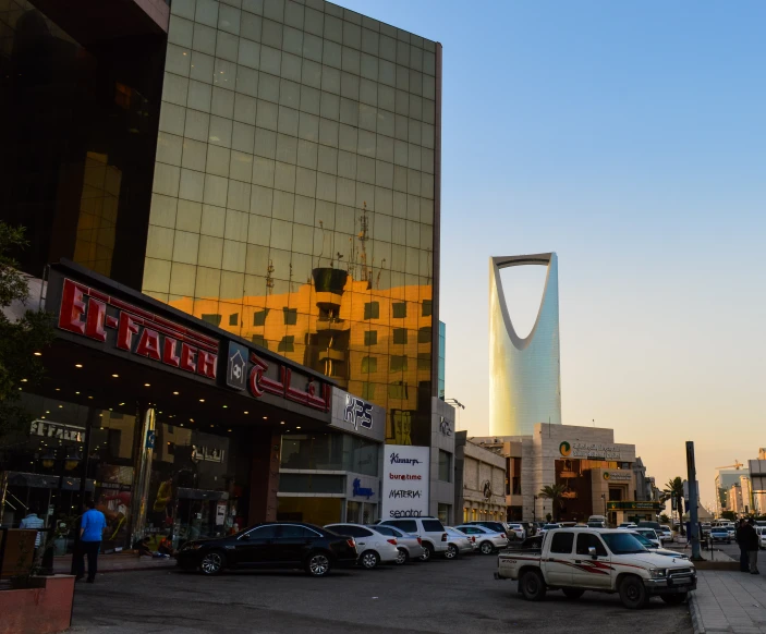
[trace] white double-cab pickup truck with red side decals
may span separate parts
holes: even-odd
[[[503,550],[495,578],[518,580],[519,593],[540,601],[547,590],[576,599],[585,590],[619,593],[627,608],[643,608],[653,596],[681,603],[696,588],[688,559],[655,554],[627,531],[557,528],[542,548]]]

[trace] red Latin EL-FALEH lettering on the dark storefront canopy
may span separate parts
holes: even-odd
[[[216,379],[217,339],[70,279],[64,280],[58,326],[100,342],[113,331],[109,339],[118,350]]]

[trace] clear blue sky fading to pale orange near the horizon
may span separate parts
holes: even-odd
[[[460,428],[488,434],[489,257],[555,251],[563,423],[615,429],[660,484],[693,440],[713,505],[715,467],[766,447],[766,3],[341,3],[443,46]],[[512,270],[528,330],[542,269]]]

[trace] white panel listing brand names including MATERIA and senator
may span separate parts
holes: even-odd
[[[428,515],[429,447],[386,444],[380,519]]]

